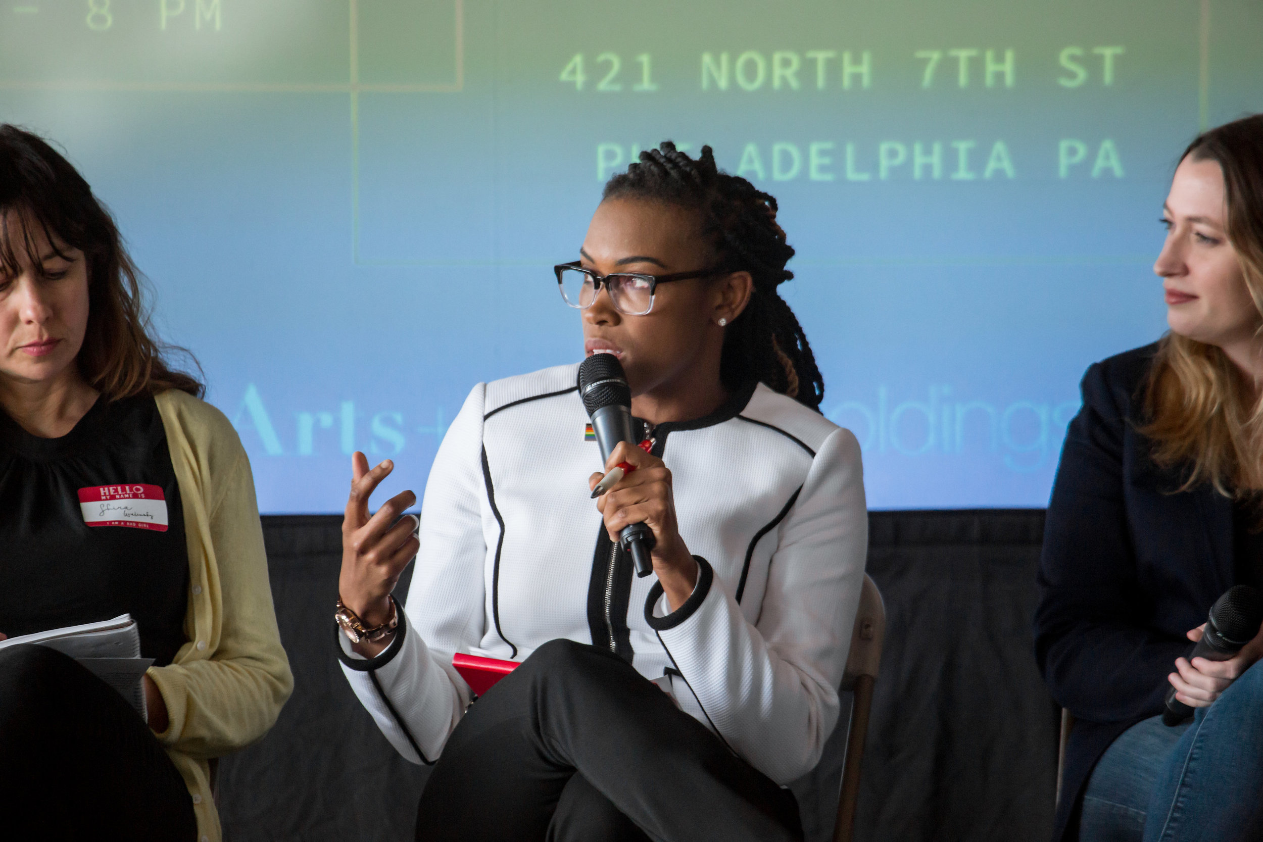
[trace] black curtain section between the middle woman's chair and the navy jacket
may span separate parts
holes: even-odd
[[[885,645],[860,842],[1052,837],[1060,711],[1031,621],[1043,510],[869,515]]]

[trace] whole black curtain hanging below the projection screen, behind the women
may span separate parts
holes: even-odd
[[[877,511],[869,524],[887,636],[856,839],[1047,839],[1057,709],[1031,646],[1043,511]],[[333,654],[341,516],[263,525],[294,694],[263,741],[220,762],[225,837],[412,839],[427,770],[390,747]],[[808,842],[830,837],[844,745],[839,728],[793,785]]]

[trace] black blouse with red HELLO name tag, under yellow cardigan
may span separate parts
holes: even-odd
[[[131,614],[140,654],[186,641],[188,549],[179,486],[153,398],[101,398],[61,438],[0,412],[0,631]]]

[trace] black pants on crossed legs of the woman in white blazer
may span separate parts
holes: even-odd
[[[789,790],[613,653],[553,640],[480,698],[434,765],[426,842],[802,839]]]

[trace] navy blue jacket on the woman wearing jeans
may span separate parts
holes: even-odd
[[[1176,491],[1137,427],[1157,345],[1087,369],[1048,504],[1036,658],[1077,720],[1055,839],[1077,838],[1092,766],[1132,725],[1162,712],[1185,632],[1234,582],[1233,502],[1209,485]]]

